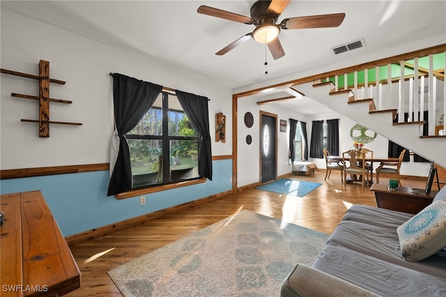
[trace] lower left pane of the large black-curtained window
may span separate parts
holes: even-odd
[[[133,187],[162,183],[162,141],[160,139],[128,139]]]

